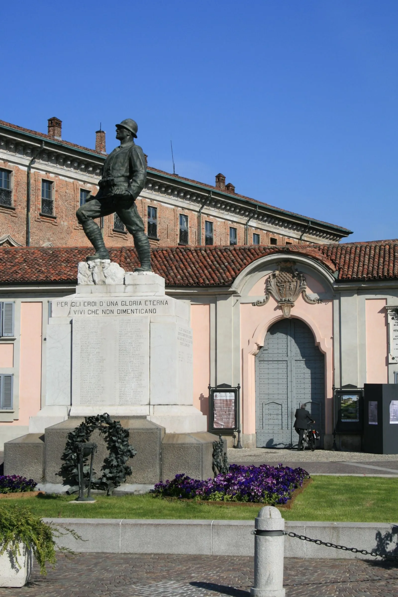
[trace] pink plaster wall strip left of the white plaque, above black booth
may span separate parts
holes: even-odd
[[[385,298],[365,301],[366,382],[388,383],[388,327]]]

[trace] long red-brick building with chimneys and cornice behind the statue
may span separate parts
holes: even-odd
[[[0,245],[89,246],[76,210],[95,195],[104,163],[105,132],[95,149],[0,121]],[[338,242],[351,231],[272,207],[235,193],[216,176],[215,186],[148,167],[136,201],[153,247],[176,245],[292,245]],[[99,222],[108,247],[132,246],[117,216]]]

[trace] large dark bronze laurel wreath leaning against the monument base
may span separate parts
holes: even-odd
[[[124,429],[120,421],[114,421],[107,413],[97,414],[95,417],[85,417],[79,427],[68,433],[66,447],[61,460],[60,475],[65,484],[76,486],[78,481],[76,444],[88,442],[92,432],[98,429],[104,435],[108,448],[108,456],[101,467],[97,479],[92,482],[92,487],[105,490],[109,496],[115,487],[126,481],[126,476],[131,475],[131,468],[126,464],[129,458],[136,455],[136,450],[129,444],[129,431]],[[88,478],[89,466],[85,464],[83,474]]]

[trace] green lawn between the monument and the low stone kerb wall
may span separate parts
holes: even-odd
[[[398,479],[315,476],[297,496],[286,520],[331,522],[398,522]],[[45,496],[0,500],[0,506],[26,504],[47,518],[198,518],[254,519],[261,507],[207,506],[151,496],[97,496],[91,505],[69,504],[74,497]]]

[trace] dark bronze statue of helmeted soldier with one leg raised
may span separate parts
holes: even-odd
[[[135,205],[147,177],[144,152],[133,139],[136,139],[137,131],[138,125],[131,118],[126,118],[116,125],[116,139],[120,140],[120,146],[105,159],[97,195],[89,197],[88,201],[79,207],[76,217],[95,248],[95,254],[87,257],[87,261],[110,259],[101,230],[94,218],[116,212],[133,235],[134,246],[141,263],[141,267],[136,267],[135,271],[150,272],[150,244],[144,232],[144,222]]]

